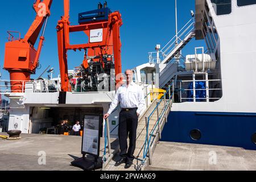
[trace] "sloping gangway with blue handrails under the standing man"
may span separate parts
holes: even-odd
[[[167,123],[167,117],[172,107],[172,85],[168,86],[167,92],[161,100],[155,99],[151,105],[148,106],[146,112],[139,118],[137,129],[137,144],[134,152],[134,165],[127,170],[143,171],[148,165],[152,164],[152,155],[156,145],[161,139],[161,133],[164,125]],[[106,126],[107,127],[107,126]],[[129,139],[128,139],[129,140]],[[129,142],[129,141],[127,141]],[[107,148],[108,146],[105,146]],[[108,164],[104,165],[104,171],[123,171],[125,164],[115,167],[114,164],[119,156],[111,156]]]

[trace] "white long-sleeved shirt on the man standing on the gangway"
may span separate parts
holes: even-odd
[[[143,90],[141,86],[135,84],[134,82],[130,82],[128,87],[126,84],[123,84],[118,88],[114,101],[110,105],[108,114],[113,112],[119,102],[123,109],[138,107],[138,114],[142,114],[144,109],[146,109],[146,101],[144,99]]]

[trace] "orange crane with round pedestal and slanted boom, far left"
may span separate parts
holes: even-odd
[[[34,2],[33,8],[36,12],[36,18],[24,39],[20,38],[19,32],[8,31],[9,42],[5,46],[4,69],[10,73],[11,92],[22,92],[24,90],[24,82],[30,80],[31,74],[35,74],[43,47],[44,30],[50,15],[51,4],[52,0],[36,0]],[[36,50],[34,45],[43,26],[43,33],[40,36],[40,42]],[[19,38],[15,39],[13,33],[19,33]]]

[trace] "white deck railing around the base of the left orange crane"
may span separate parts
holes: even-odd
[[[11,82],[16,82],[11,85]],[[0,94],[52,93],[60,91],[59,80],[0,80]]]

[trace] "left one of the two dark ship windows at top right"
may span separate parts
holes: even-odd
[[[210,0],[216,15],[231,13],[231,0]]]

